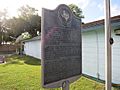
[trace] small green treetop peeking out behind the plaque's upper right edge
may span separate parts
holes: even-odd
[[[84,15],[82,15],[82,10],[75,4],[68,5],[72,12],[77,16],[78,18],[84,18]]]

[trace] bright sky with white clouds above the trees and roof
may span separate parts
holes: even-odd
[[[0,10],[8,9],[10,17],[17,16],[17,9],[23,5],[29,5],[38,10],[41,15],[41,9],[55,9],[59,4],[76,4],[82,9],[83,22],[92,22],[104,18],[104,0],[0,0]],[[120,0],[111,0],[111,16],[120,15]]]

